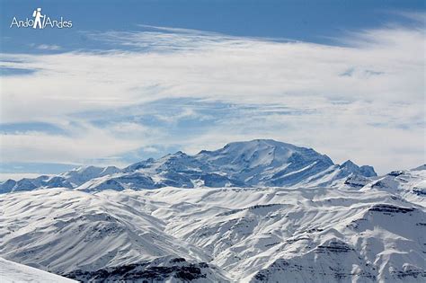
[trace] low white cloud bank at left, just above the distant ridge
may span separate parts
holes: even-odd
[[[84,164],[87,160],[112,159],[138,149],[144,143],[152,143],[161,137],[155,129],[148,129],[131,122],[111,123],[107,127],[94,127],[79,121],[62,125],[67,136],[38,131],[4,133],[0,137],[2,162],[43,162],[58,164]],[[98,161],[99,163],[99,161]]]

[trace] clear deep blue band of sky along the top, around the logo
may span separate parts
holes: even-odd
[[[96,48],[81,31],[134,31],[138,24],[333,44],[347,31],[412,24],[399,12],[424,12],[424,1],[2,1],[4,52],[34,52],[28,43]],[[43,13],[72,19],[68,31],[11,30],[13,16]]]

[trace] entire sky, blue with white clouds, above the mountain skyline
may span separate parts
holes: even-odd
[[[11,27],[32,12],[66,29]],[[0,179],[273,138],[426,162],[424,1],[0,1]]]

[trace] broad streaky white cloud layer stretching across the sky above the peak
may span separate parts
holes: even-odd
[[[315,147],[337,161],[373,164],[381,172],[424,163],[422,27],[353,32],[341,39],[342,46],[168,29],[92,37],[133,51],[3,54],[2,66],[38,71],[2,78],[2,121],[67,125],[76,112],[110,110],[113,116],[123,107],[182,97],[258,109],[226,121],[216,117],[202,136],[184,140],[141,123],[92,126],[79,137],[6,135],[1,138],[7,160],[72,162],[138,146],[195,150],[275,137]],[[268,105],[300,113],[260,118]],[[178,113],[155,117],[167,122],[204,114]]]

